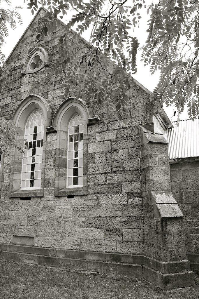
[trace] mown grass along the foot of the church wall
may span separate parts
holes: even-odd
[[[199,286],[185,289],[181,293],[161,293],[144,280],[116,281],[82,273],[0,261],[0,298],[198,299]]]

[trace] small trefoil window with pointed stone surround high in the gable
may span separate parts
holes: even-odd
[[[37,64],[38,64],[38,67],[35,67]],[[23,66],[22,74],[36,73],[36,72],[40,71],[42,68],[44,68],[45,65],[49,65],[48,53],[43,48],[36,47],[28,55],[28,57],[24,63],[24,66]]]

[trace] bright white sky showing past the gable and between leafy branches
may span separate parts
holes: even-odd
[[[18,40],[26,30],[27,26],[33,19],[33,15],[31,13],[31,10],[27,9],[27,3],[23,3],[23,0],[10,0],[13,4],[13,7],[15,6],[22,6],[23,9],[19,10],[19,13],[22,17],[23,24],[17,25],[17,28],[15,30],[9,30],[9,36],[5,39],[6,44],[2,46],[2,52],[3,54],[8,57],[10,52],[13,50],[14,46],[17,44]],[[5,6],[4,1],[1,2],[1,8],[7,8]],[[141,13],[142,12],[142,13]],[[138,39],[138,42],[140,43],[139,46],[144,45],[146,39],[147,39],[147,20],[149,19],[149,15],[147,15],[146,10],[143,8],[139,11],[141,13],[142,18],[140,19],[140,28],[133,32],[129,32],[131,36],[136,36]],[[66,19],[67,21],[67,19]],[[65,21],[65,22],[66,22]],[[88,34],[84,33],[83,37],[88,40],[87,38]],[[142,85],[144,85],[147,89],[150,91],[153,91],[154,87],[158,83],[159,79],[159,72],[157,71],[154,75],[151,75],[149,72],[149,67],[144,67],[144,63],[140,61],[141,59],[141,51],[138,51],[137,54],[137,73],[133,75],[133,77],[140,82]],[[169,116],[169,118],[172,121],[175,121],[177,118],[173,117],[173,108],[166,108],[164,107],[165,112]],[[177,116],[177,115],[176,115]],[[180,119],[188,119],[187,112],[183,112]]]

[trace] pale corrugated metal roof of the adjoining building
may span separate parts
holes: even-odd
[[[180,120],[179,126],[166,130],[164,137],[169,142],[169,159],[199,157],[199,118]]]

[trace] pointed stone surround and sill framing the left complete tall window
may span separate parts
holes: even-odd
[[[21,185],[21,167],[22,156],[17,150],[13,150],[12,168],[10,178],[10,193],[9,197],[32,197],[44,195],[44,170],[45,170],[45,147],[46,147],[46,128],[51,123],[51,109],[47,101],[38,95],[29,95],[17,107],[13,114],[13,122],[17,127],[17,132],[20,134],[18,140],[23,142],[25,125],[30,114],[35,110],[40,109],[44,113],[44,144],[42,157],[42,172],[41,172],[41,190],[20,190]]]

